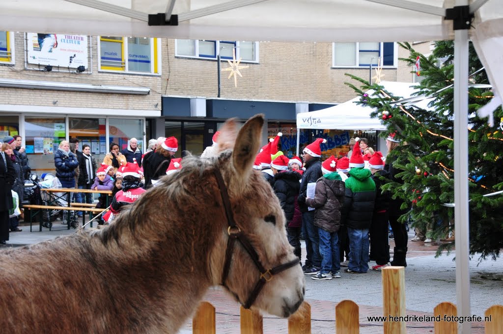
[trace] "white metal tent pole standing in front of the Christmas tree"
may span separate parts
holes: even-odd
[[[456,0],[466,6],[468,0]],[[458,316],[470,316],[468,216],[468,29],[454,31],[454,228],[456,230],[456,304]],[[458,323],[471,333],[471,322]]]

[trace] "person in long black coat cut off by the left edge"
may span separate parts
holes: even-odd
[[[0,151],[0,243],[9,240],[9,210],[13,208],[12,186],[15,182],[15,170],[11,159]]]

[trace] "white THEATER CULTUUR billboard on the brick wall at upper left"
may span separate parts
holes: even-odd
[[[88,37],[27,33],[28,63],[61,67],[88,67]]]

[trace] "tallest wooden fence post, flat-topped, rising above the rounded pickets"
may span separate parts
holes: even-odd
[[[405,268],[386,267],[382,272],[383,315],[385,317],[405,316]],[[405,321],[384,322],[385,334],[405,334]]]

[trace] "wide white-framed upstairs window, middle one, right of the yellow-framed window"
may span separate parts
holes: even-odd
[[[232,50],[236,50],[236,59],[242,62],[259,62],[259,43],[245,41],[206,41],[195,39],[175,40],[175,56],[200,59],[232,59]]]

